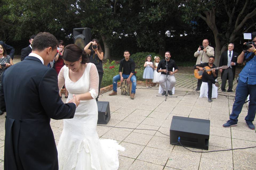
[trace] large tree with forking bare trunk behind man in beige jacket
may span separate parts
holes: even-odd
[[[182,18],[191,23],[202,19],[214,34],[215,63],[228,43],[251,32],[256,20],[256,1],[251,0],[190,0],[182,1]]]

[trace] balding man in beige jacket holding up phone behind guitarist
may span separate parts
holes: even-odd
[[[214,48],[209,46],[209,40],[203,40],[203,46],[199,46],[197,51],[194,53],[194,57],[197,57],[196,65],[201,63],[207,63],[210,56],[214,56]],[[198,79],[197,81],[197,89],[200,90],[202,84],[202,79]]]

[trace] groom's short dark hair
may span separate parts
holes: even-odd
[[[54,50],[57,48],[58,44],[59,42],[54,35],[49,32],[39,32],[33,40],[32,50],[41,52],[48,47],[51,47]]]

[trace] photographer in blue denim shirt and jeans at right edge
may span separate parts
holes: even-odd
[[[242,46],[243,51],[237,58],[237,63],[243,63],[245,61],[245,66],[239,74],[239,82],[235,91],[235,102],[232,113],[229,116],[230,120],[223,124],[225,128],[237,125],[238,116],[242,111],[245,99],[250,95],[250,103],[245,122],[250,129],[255,129],[252,122],[254,121],[256,112],[256,32],[251,33],[251,35],[253,41],[251,43],[244,43]]]

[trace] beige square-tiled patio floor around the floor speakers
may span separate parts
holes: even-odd
[[[159,95],[158,87],[144,86],[137,86],[134,100],[129,96],[122,96],[119,88],[117,96],[108,96],[107,92],[99,97],[100,101],[110,102],[111,119],[106,126],[114,126],[97,126],[99,137],[115,139],[126,148],[124,152],[119,152],[119,169],[256,169],[256,148],[195,153],[181,146],[170,145],[170,137],[167,135],[170,135],[172,117],[183,116],[210,120],[209,151],[256,146],[255,130],[250,130],[244,120],[247,115],[246,104],[243,106],[237,126],[222,127],[232,111],[234,93],[218,91],[218,98],[208,103],[207,98],[199,98],[198,92],[194,91],[189,95],[193,84],[195,87],[197,82],[192,77],[192,83],[191,75],[176,74],[175,77],[177,84],[173,96],[177,97],[168,97],[166,101],[165,97],[156,96]],[[234,88],[235,86],[236,84]],[[0,169],[3,169],[4,116],[5,114],[0,116]],[[58,145],[63,121],[51,120],[51,127]]]

